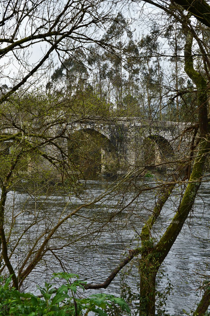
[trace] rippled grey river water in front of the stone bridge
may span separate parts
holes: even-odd
[[[147,180],[154,182],[154,179]],[[102,181],[89,181],[91,194],[97,197],[103,193],[111,183]],[[155,184],[153,184],[155,185]],[[86,191],[84,191],[86,192]],[[87,193],[87,192],[86,192]],[[87,193],[88,194],[88,193]],[[39,266],[28,276],[25,282],[25,287],[28,291],[36,292],[35,284],[43,285],[45,280],[49,280],[52,272],[61,271],[61,265],[56,256],[61,258],[63,268],[74,273],[78,273],[80,278],[89,282],[101,283],[110,274],[111,270],[116,267],[120,259],[125,257],[125,252],[128,249],[133,249],[138,243],[138,233],[144,224],[144,219],[148,215],[152,206],[154,206],[154,192],[144,192],[138,199],[138,202],[131,203],[128,208],[124,209],[115,219],[106,222],[106,219],[112,214],[114,206],[120,204],[122,206],[129,203],[132,199],[132,193],[129,197],[127,194],[125,203],[123,195],[113,195],[104,198],[104,204],[96,203],[93,208],[82,209],[79,212],[80,216],[72,216],[64,223],[64,229],[58,231],[57,239],[51,242],[51,251],[46,253],[46,257],[42,260]],[[162,211],[160,219],[155,224],[153,235],[158,239],[159,235],[164,232],[164,229],[170,222],[176,210],[176,205],[180,199],[181,192],[176,189],[167,201]],[[23,229],[33,221],[34,210],[39,211],[41,219],[45,214],[45,221],[37,224],[27,231],[23,237],[23,241],[16,251],[14,264],[18,264],[24,258],[26,249],[28,251],[33,238],[37,238],[36,229],[44,230],[49,222],[56,222],[58,218],[62,219],[71,210],[74,210],[82,201],[72,195],[69,204],[68,194],[58,196],[52,194],[46,200],[44,194],[39,199],[34,199],[34,196],[24,192],[10,192],[7,201],[8,218],[13,208],[15,211],[24,210],[17,217],[15,223],[16,239]],[[66,206],[67,205],[67,206]],[[120,210],[119,208],[119,210]],[[209,182],[204,182],[196,198],[193,212],[188,217],[184,224],[181,233],[179,234],[170,253],[164,261],[163,269],[164,276],[160,280],[159,289],[167,286],[167,274],[173,284],[173,291],[168,297],[167,310],[170,314],[182,313],[182,308],[190,311],[199,299],[196,289],[201,284],[200,276],[197,274],[209,274],[208,258],[210,255],[209,244],[209,221],[210,221],[210,187]],[[51,226],[52,227],[52,226]],[[60,235],[59,235],[60,234]],[[65,238],[65,243],[68,244],[62,249]],[[15,240],[14,240],[15,242]],[[54,244],[53,244],[54,243]],[[27,246],[26,246],[27,245]],[[47,270],[46,270],[47,269]],[[132,264],[129,264],[124,271],[126,282],[131,286],[134,292],[137,292],[136,283],[139,281],[137,259],[133,259]],[[120,295],[120,274],[116,276],[114,281],[109,285],[104,292],[114,295]],[[86,294],[90,294],[90,290]]]

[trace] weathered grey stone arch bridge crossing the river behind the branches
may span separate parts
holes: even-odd
[[[85,119],[71,116],[68,121],[67,137],[58,142],[68,159],[69,172],[81,176],[143,175],[146,169],[174,170],[177,161],[189,155],[192,137],[183,133],[188,123],[97,116]],[[60,129],[62,131],[63,126],[55,125],[50,133],[59,135]],[[4,129],[5,134],[13,132],[12,128]],[[11,149],[12,140],[1,144],[2,153],[9,154]],[[61,155],[53,144],[46,145],[45,150],[55,156]],[[32,158],[27,172],[36,165],[37,169],[55,170],[57,174],[55,166],[42,156]]]

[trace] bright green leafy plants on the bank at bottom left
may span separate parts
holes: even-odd
[[[84,290],[86,284],[78,279],[77,274],[54,273],[52,279],[56,277],[64,279],[66,283],[58,289],[52,287],[53,283],[45,283],[43,288],[38,287],[42,298],[10,288],[11,276],[7,278],[5,284],[0,287],[0,315],[82,316],[92,312],[95,315],[107,316],[104,310],[111,307],[111,304],[118,305],[122,311],[130,314],[127,303],[114,295],[99,293],[88,298],[76,298],[77,287]],[[73,282],[70,281],[72,278],[75,279]],[[0,281],[2,283],[3,279]]]

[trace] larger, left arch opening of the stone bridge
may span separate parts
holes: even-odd
[[[113,175],[117,171],[117,149],[107,136],[94,128],[84,127],[71,133],[68,153],[71,165],[77,165],[85,177]]]

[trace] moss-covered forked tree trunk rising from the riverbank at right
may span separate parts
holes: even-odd
[[[142,256],[139,265],[140,271],[140,310],[139,315],[155,315],[155,279],[160,265],[163,263],[171,247],[173,246],[182,226],[187,219],[195,201],[198,189],[201,185],[204,163],[209,153],[209,131],[207,119],[207,83],[205,78],[193,67],[191,54],[193,37],[187,34],[185,44],[185,71],[197,87],[197,111],[199,118],[200,145],[195,158],[193,170],[188,181],[186,191],[174,218],[166,229],[164,235],[157,244],[151,238],[151,228],[159,216],[160,211],[173,190],[173,185],[162,192],[153,215],[148,219],[142,228],[141,243]],[[206,302],[205,301],[205,308]],[[200,307],[201,308],[201,307]],[[204,309],[205,309],[204,308]],[[201,308],[202,309],[202,308]]]

